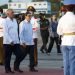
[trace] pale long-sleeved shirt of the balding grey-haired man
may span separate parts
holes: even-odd
[[[16,19],[11,20],[7,17],[4,20],[3,44],[10,44],[11,42],[19,44],[18,24]]]

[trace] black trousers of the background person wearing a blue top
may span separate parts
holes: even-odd
[[[57,53],[61,53],[58,37],[50,37],[48,52],[51,52],[54,42],[56,43]]]

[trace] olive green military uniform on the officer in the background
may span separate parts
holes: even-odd
[[[40,49],[42,53],[44,53],[43,50],[47,52],[47,42],[48,42],[48,37],[49,37],[49,31],[48,31],[48,26],[49,26],[49,21],[47,19],[42,19],[40,18],[40,32],[41,32],[41,38],[43,45]]]

